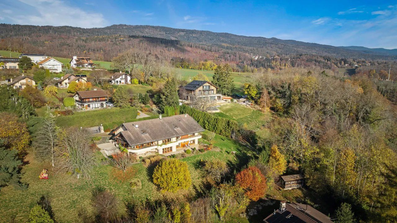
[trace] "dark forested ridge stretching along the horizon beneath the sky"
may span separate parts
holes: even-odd
[[[382,50],[363,51],[295,40],[247,37],[230,33],[214,33],[210,31],[174,29],[150,25],[111,25],[104,28],[84,29],[69,26],[53,27],[0,24],[0,38],[42,37],[45,35],[66,35],[73,37],[135,35],[158,37],[197,44],[214,45],[224,50],[251,53],[253,56],[317,54],[339,58],[387,59],[387,56],[396,55],[389,54]]]

